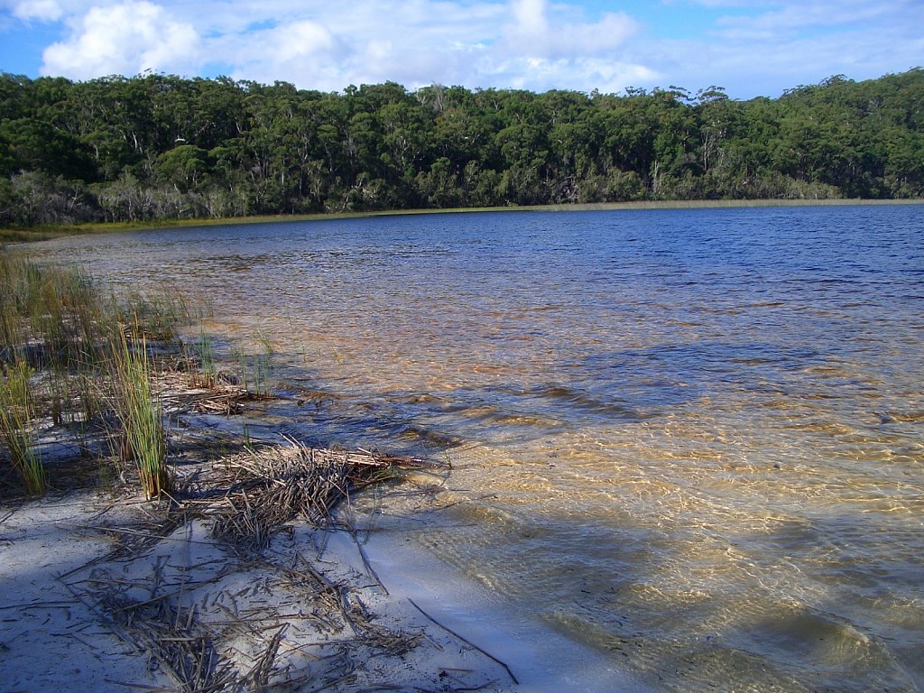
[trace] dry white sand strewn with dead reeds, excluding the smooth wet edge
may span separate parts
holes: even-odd
[[[146,506],[75,492],[6,510],[3,690],[513,684],[386,595],[358,569],[349,533],[296,523],[260,556],[240,556],[198,519],[154,539]]]

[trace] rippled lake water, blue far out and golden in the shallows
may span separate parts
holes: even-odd
[[[41,249],[40,249],[41,248]],[[304,407],[432,451],[379,522],[677,690],[924,687],[924,208],[491,213],[36,247],[196,286]],[[255,347],[256,348],[256,347]]]

